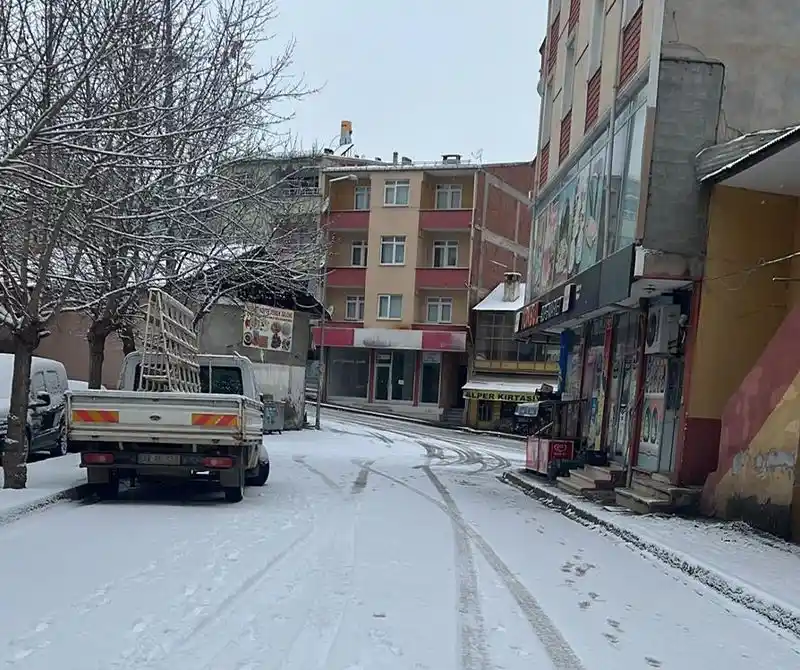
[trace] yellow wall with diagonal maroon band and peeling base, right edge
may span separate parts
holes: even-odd
[[[800,507],[800,295],[797,282],[773,278],[799,279],[800,266],[757,266],[792,253],[798,239],[798,199],[715,189],[686,398],[687,431],[696,419],[720,425],[705,511],[794,537],[800,537],[800,524],[792,522]]]

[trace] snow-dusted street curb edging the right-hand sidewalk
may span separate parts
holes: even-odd
[[[681,552],[648,540],[607,519],[602,519],[591,511],[575,505],[544,485],[537,486],[534,482],[521,477],[513,470],[507,470],[498,476],[498,479],[519,489],[528,496],[539,499],[548,507],[561,512],[567,518],[584,526],[599,528],[620,538],[631,547],[646,552],[671,568],[680,570],[736,604],[760,614],[779,628],[800,637],[800,611],[777,602],[768,594],[745,584],[733,582],[725,574],[702,565]]]

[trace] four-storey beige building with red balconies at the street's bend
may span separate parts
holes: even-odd
[[[323,170],[329,401],[460,420],[470,306],[526,270],[533,180],[458,155]]]

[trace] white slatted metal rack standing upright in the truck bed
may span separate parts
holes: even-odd
[[[150,289],[139,390],[200,393],[194,313],[161,289]]]

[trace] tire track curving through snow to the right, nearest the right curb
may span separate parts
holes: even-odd
[[[503,562],[500,556],[497,555],[489,543],[484,540],[483,537],[474,528],[472,528],[472,526],[466,523],[460,514],[453,514],[453,511],[448,507],[446,502],[437,500],[425,491],[422,491],[421,489],[404,482],[402,479],[398,479],[397,477],[393,477],[392,475],[381,472],[380,470],[375,470],[373,468],[370,468],[370,470],[372,474],[383,477],[384,479],[388,479],[389,481],[399,484],[400,486],[407,488],[409,491],[416,493],[418,496],[425,498],[428,502],[436,505],[436,507],[442,510],[455,523],[457,523],[463,530],[464,534],[470,540],[472,540],[472,542],[481,552],[483,557],[486,559],[486,562],[489,563],[492,569],[497,573],[497,576],[500,577],[500,580],[503,582],[506,589],[508,589],[511,596],[516,601],[520,611],[522,611],[522,613],[525,615],[525,618],[528,620],[528,623],[533,629],[534,634],[542,643],[545,652],[553,662],[553,667],[555,670],[585,670],[578,655],[561,634],[561,631],[558,630],[556,625],[550,620],[550,617],[547,616],[547,613],[542,609],[542,606],[539,605],[533,594],[525,587],[524,584],[522,584],[522,582],[519,581],[519,579],[517,579],[514,573],[511,572],[509,567]],[[444,488],[441,482],[439,485]],[[439,491],[439,487],[437,487],[437,491]]]

